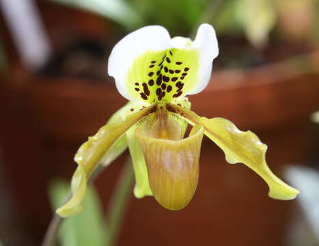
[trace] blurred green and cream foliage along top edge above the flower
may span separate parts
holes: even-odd
[[[51,0],[106,16],[125,32],[163,25],[174,36],[189,36],[211,23],[219,36],[245,35],[260,48],[276,28],[279,38],[317,42],[318,0]],[[277,31],[278,30],[278,31]]]

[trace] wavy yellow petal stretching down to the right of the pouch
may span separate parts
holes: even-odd
[[[207,119],[176,105],[167,107],[169,111],[182,115],[191,123],[204,126],[204,134],[223,150],[228,163],[244,163],[264,179],[268,184],[270,197],[292,200],[298,195],[298,190],[271,172],[265,159],[267,146],[254,133],[242,132],[232,122],[223,118]]]

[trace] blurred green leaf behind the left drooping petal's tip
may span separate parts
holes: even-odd
[[[53,208],[57,208],[65,200],[70,184],[55,180],[49,188]],[[94,187],[87,187],[85,210],[77,216],[64,219],[58,238],[61,246],[103,246],[106,244],[107,230],[103,223],[101,203]]]

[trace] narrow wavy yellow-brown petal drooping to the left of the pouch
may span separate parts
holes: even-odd
[[[76,215],[81,211],[81,202],[84,197],[87,178],[91,176],[94,169],[113,144],[120,139],[131,126],[149,113],[152,113],[153,110],[154,106],[150,106],[129,115],[122,123],[106,124],[100,128],[96,135],[89,137],[89,140],[82,144],[74,157],[74,161],[79,166],[72,177],[72,197],[66,204],[57,209],[57,213],[61,217]]]

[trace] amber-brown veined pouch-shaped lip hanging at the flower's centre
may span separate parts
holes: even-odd
[[[189,204],[197,187],[204,131],[195,126],[189,137],[182,139],[182,126],[177,121],[167,119],[165,124],[167,128],[155,123],[150,131],[139,127],[135,135],[155,199],[167,209],[179,210]]]

